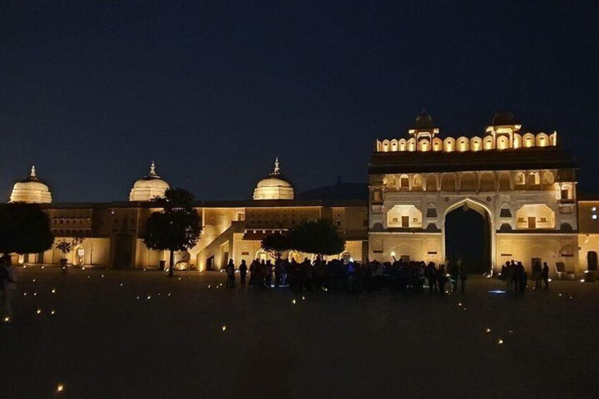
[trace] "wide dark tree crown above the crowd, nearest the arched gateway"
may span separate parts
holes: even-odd
[[[336,255],[345,249],[345,239],[337,227],[326,220],[303,222],[289,233],[290,246],[308,254]]]

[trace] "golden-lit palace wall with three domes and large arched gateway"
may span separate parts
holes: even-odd
[[[268,258],[260,249],[266,234],[327,218],[347,240],[338,258],[444,263],[446,216],[464,209],[480,213],[487,225],[485,267],[497,270],[517,259],[529,273],[535,261],[547,262],[553,275],[572,278],[597,270],[599,200],[577,198],[578,167],[559,146],[556,132],[528,133],[521,127],[500,112],[481,136],[454,138],[442,136],[422,112],[407,136],[374,142],[369,189],[362,198],[302,199],[277,159],[273,172],[256,184],[253,199],[198,201],[201,239],[176,259],[182,267],[219,270],[230,258],[237,264]],[[129,202],[51,203],[49,187],[34,168],[15,184],[11,202],[41,203],[57,240],[85,238],[69,254],[69,263],[157,268],[167,254],[150,251],[141,237],[146,219],[157,210],[150,200],[168,188],[152,163],[150,173],[135,182]],[[15,261],[57,264],[61,257],[50,249]]]

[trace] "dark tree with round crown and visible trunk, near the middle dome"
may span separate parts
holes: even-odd
[[[165,196],[154,198],[160,212],[146,222],[143,244],[155,251],[170,251],[169,277],[174,275],[174,251],[186,251],[198,242],[200,216],[194,209],[194,196],[185,189],[168,189]]]

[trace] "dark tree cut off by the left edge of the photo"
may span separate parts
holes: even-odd
[[[0,205],[0,252],[38,254],[52,248],[54,235],[42,208],[32,203]]]

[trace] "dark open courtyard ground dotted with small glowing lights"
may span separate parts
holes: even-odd
[[[446,297],[302,299],[227,290],[220,273],[19,271],[15,323],[0,328],[2,398],[52,398],[59,384],[59,397],[85,399],[595,398],[599,390],[599,282],[516,296],[473,278],[468,292]]]

